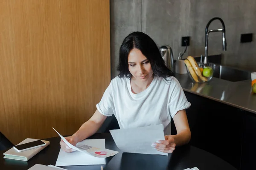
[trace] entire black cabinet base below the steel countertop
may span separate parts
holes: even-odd
[[[190,144],[229,162],[238,170],[256,168],[256,114],[189,92],[186,110]],[[175,125],[172,124],[175,134]]]

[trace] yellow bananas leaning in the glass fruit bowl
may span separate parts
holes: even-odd
[[[195,61],[194,57],[189,56],[187,59],[184,60],[189,73],[191,74],[192,78],[195,82],[200,82],[199,79],[206,82],[207,78],[204,77],[199,69],[197,62]],[[199,78],[199,79],[198,79]]]

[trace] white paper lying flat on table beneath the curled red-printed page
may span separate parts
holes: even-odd
[[[76,144],[77,147],[82,145],[105,148],[105,139],[85,139]],[[98,158],[79,151],[67,153],[60,149],[58,159],[55,166],[71,166],[71,165],[99,165],[106,164],[105,158]]]

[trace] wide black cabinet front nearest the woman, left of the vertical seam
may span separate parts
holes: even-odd
[[[242,113],[234,107],[185,92],[191,107],[186,110],[192,133],[190,144],[232,164],[241,166]]]

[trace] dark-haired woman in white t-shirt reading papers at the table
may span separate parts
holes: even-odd
[[[93,116],[73,136],[66,137],[67,141],[76,145],[114,114],[121,129],[163,124],[165,140],[152,143],[156,150],[172,153],[175,146],[187,144],[191,132],[185,109],[191,104],[147,34],[133,32],[125,37],[117,70],[119,75],[111,80]],[[171,119],[177,135],[170,135]],[[60,144],[64,151],[74,151],[62,140]]]

